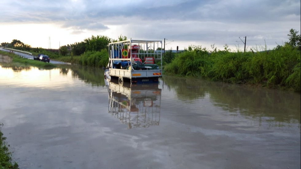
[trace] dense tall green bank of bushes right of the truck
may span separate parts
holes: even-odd
[[[167,75],[252,84],[300,92],[300,51],[289,45],[264,52],[208,52],[194,46],[165,66]]]

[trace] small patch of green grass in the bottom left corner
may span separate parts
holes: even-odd
[[[8,150],[5,139],[6,138],[3,137],[3,133],[1,132],[1,125],[0,125],[0,168],[18,169],[18,164],[16,162],[12,162],[11,152],[9,152]]]

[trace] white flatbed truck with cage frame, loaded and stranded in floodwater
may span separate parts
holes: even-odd
[[[162,41],[124,40],[109,43],[109,63],[104,78],[131,83],[158,83],[162,77]],[[158,63],[159,65],[155,64]]]

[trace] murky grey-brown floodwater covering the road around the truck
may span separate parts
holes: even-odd
[[[300,94],[196,79],[123,86],[104,71],[0,66],[20,168],[300,168]]]

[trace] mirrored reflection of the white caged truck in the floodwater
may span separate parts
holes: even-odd
[[[161,90],[158,83],[119,85],[117,79],[106,80],[109,94],[108,111],[128,128],[159,125]]]

